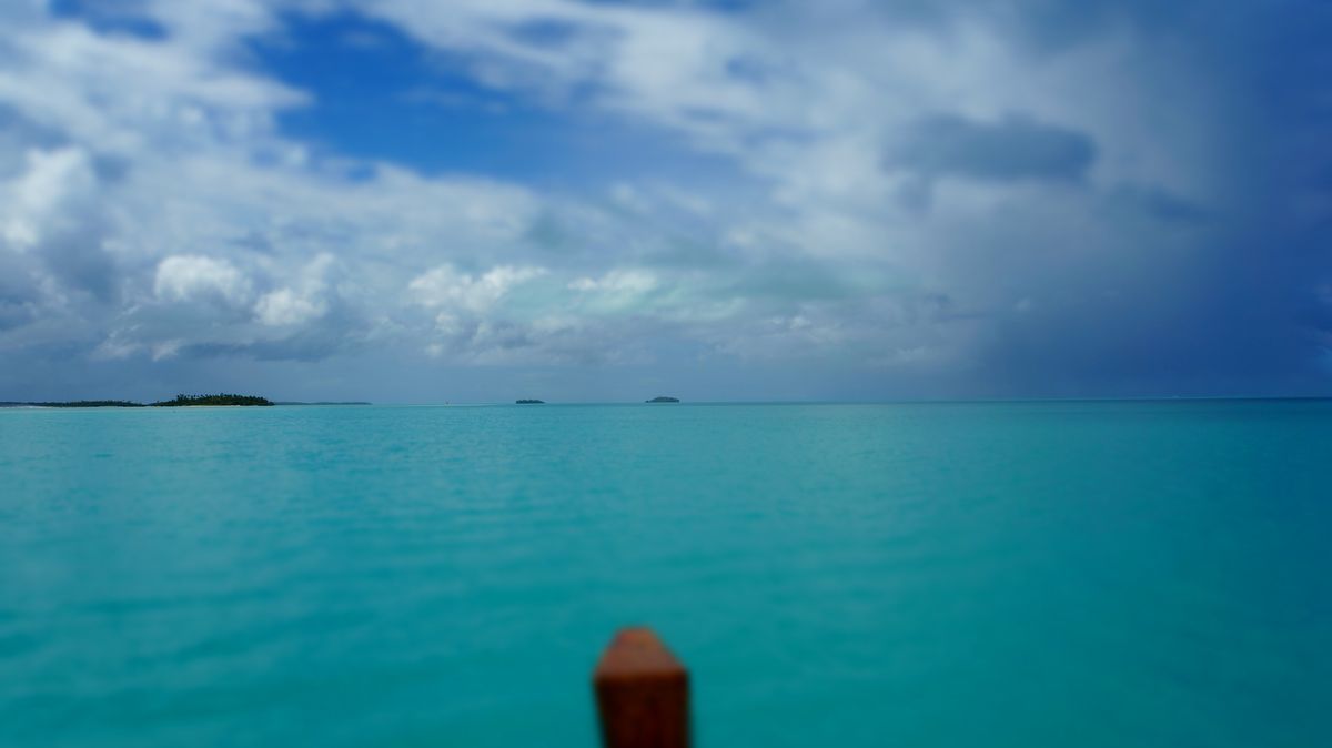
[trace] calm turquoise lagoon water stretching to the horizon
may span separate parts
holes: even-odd
[[[1332,745],[1332,403],[0,410],[0,745]]]

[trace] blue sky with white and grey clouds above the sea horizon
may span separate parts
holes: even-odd
[[[7,0],[0,401],[1332,395],[1332,4]]]

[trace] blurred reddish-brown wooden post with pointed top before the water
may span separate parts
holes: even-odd
[[[623,628],[591,676],[606,748],[687,748],[689,673],[650,628]]]

